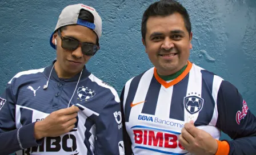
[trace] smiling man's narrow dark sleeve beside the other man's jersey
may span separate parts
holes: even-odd
[[[125,88],[123,88],[120,101],[121,101],[121,113],[122,113],[122,123],[123,123],[123,142],[125,144],[125,154],[131,155],[133,151],[131,150],[131,139],[129,134],[127,133],[126,126],[125,126],[125,111],[123,107],[123,95],[124,95]]]

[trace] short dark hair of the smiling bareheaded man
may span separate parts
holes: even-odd
[[[189,14],[187,13],[187,10],[185,9],[185,7],[183,7],[181,3],[174,0],[161,0],[151,4],[147,8],[147,10],[144,12],[142,17],[142,22],[141,22],[142,38],[145,40],[146,31],[147,31],[147,20],[149,19],[149,17],[156,17],[156,16],[166,17],[174,13],[179,13],[182,15],[185,22],[185,27],[190,34],[191,23],[190,23]]]

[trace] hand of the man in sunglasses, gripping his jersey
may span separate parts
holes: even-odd
[[[78,107],[70,107],[52,112],[44,120],[35,123],[35,139],[43,137],[57,137],[67,133],[75,127]]]

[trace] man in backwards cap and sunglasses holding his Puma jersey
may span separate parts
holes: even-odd
[[[118,94],[85,67],[101,33],[93,7],[62,10],[50,38],[57,60],[18,73],[0,96],[1,155],[124,154]]]

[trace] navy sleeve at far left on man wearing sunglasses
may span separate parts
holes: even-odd
[[[39,145],[39,141],[34,138],[34,123],[16,128],[15,102],[15,95],[9,83],[0,96],[0,154],[10,154]]]

